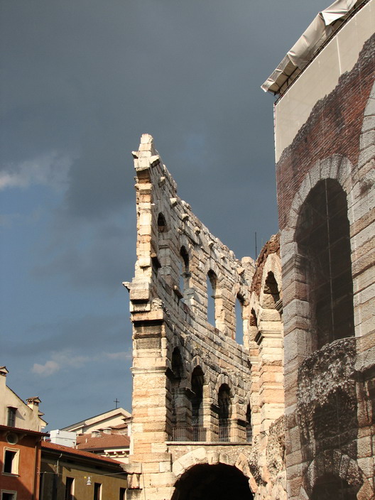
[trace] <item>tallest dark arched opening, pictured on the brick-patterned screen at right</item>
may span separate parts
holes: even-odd
[[[312,188],[298,217],[295,241],[305,276],[315,347],[354,336],[353,282],[347,196],[337,180]]]

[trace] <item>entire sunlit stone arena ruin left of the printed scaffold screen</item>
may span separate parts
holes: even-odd
[[[278,237],[254,275],[254,261],[236,259],[180,200],[151,136],[133,155],[137,261],[124,283],[134,325],[128,498],[170,499],[176,482],[187,484],[183,474],[202,464],[228,466],[229,482],[238,469],[256,499],[276,483],[285,492],[274,474],[283,452],[276,459],[267,448],[283,414]],[[274,433],[284,441],[283,430]]]

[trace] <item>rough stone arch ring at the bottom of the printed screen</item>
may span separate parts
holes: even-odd
[[[309,499],[317,481],[327,474],[339,477],[358,489],[357,499],[374,500],[374,489],[364,476],[357,462],[340,450],[326,450],[317,455],[303,475],[303,484],[300,487],[300,500]]]

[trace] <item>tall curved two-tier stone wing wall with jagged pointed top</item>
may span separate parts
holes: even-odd
[[[134,158],[131,462],[141,463],[148,497],[164,499],[176,480],[168,442],[246,445],[249,364],[235,340],[235,303],[241,302],[246,339],[254,261],[235,259],[180,200],[151,136],[142,136]],[[210,295],[214,324],[208,321]]]

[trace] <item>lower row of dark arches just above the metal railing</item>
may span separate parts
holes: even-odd
[[[245,420],[234,426],[232,389],[227,383],[220,384],[217,394],[214,395],[216,401],[212,402],[207,395],[207,381],[202,367],[195,366],[189,381],[178,347],[173,350],[168,381],[171,402],[170,434],[173,440],[251,441],[250,405],[246,407]],[[237,432],[237,425],[241,428],[241,433]]]

